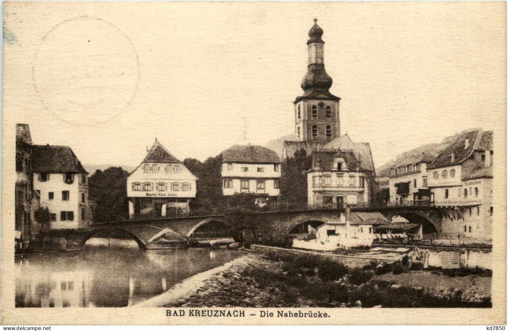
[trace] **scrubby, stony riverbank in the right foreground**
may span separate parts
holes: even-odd
[[[400,262],[378,267],[371,263],[349,268],[316,256],[249,253],[158,306],[491,307],[491,277],[482,273],[406,270]]]

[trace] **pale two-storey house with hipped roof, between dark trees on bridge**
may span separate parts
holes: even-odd
[[[224,195],[255,193],[264,206],[279,196],[280,158],[271,149],[234,145],[222,152],[220,176]]]

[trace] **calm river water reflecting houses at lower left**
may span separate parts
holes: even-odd
[[[140,250],[85,245],[81,251],[16,257],[16,307],[130,306],[241,254],[211,248]]]

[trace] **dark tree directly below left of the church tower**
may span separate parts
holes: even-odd
[[[280,196],[289,204],[307,205],[307,174],[312,158],[304,148],[297,150],[293,157],[282,162],[280,176]]]

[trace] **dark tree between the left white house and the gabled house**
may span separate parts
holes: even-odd
[[[97,212],[92,221],[110,222],[129,218],[127,200],[127,177],[129,173],[121,167],[97,170],[88,180],[88,191],[97,199]]]

